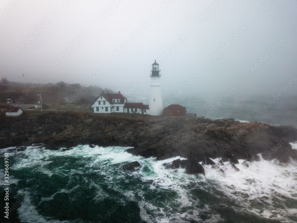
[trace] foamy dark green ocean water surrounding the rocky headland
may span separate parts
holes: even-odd
[[[228,103],[210,118],[297,126],[293,105],[282,111],[271,107],[268,112],[274,112],[267,115],[255,102]],[[214,105],[176,104],[197,116]],[[291,119],[285,116],[290,112]],[[297,143],[291,145],[297,149]],[[10,221],[6,222],[297,222],[297,162],[293,160],[280,164],[259,154],[261,160],[247,162],[249,167],[239,160],[240,171],[235,171],[229,162],[221,166],[214,159],[217,165],[204,166],[205,175],[188,175],[185,169],[168,170],[162,165],[183,157],[157,161],[125,152],[130,147],[79,145],[67,151],[44,147],[1,150],[3,182],[2,160],[9,153]],[[133,161],[141,166],[133,172],[122,169]],[[0,203],[4,207],[3,198]]]

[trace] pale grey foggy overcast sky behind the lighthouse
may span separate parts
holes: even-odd
[[[156,58],[162,94],[207,98],[231,86],[276,94],[296,75],[296,0],[1,0],[0,9],[0,78],[10,81],[84,85],[99,71],[91,85],[149,96]]]

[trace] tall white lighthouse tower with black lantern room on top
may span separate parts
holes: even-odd
[[[151,66],[151,95],[149,98],[150,115],[161,116],[163,114],[159,64],[156,62]]]

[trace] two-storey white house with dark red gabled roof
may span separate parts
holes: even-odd
[[[127,98],[120,91],[118,94],[105,94],[103,91],[90,107],[94,109],[94,113],[124,113],[126,102]]]

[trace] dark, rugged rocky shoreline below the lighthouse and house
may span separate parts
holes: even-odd
[[[71,148],[78,144],[129,146],[127,152],[165,160],[184,157],[165,168],[186,168],[189,174],[203,173],[203,166],[213,165],[210,158],[238,163],[238,159],[266,160],[280,163],[297,160],[297,129],[273,127],[260,122],[240,123],[233,118],[212,121],[199,117],[172,118],[142,122],[86,113],[50,112],[40,116],[14,117],[1,120],[1,148],[45,144],[47,149]],[[234,165],[236,168],[236,166]]]

